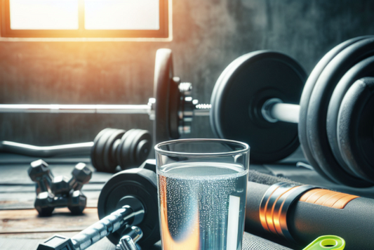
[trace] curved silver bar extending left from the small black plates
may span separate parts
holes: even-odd
[[[23,154],[30,157],[53,157],[58,154],[88,154],[91,152],[92,146],[93,142],[39,147],[3,140],[0,141],[0,152]]]

